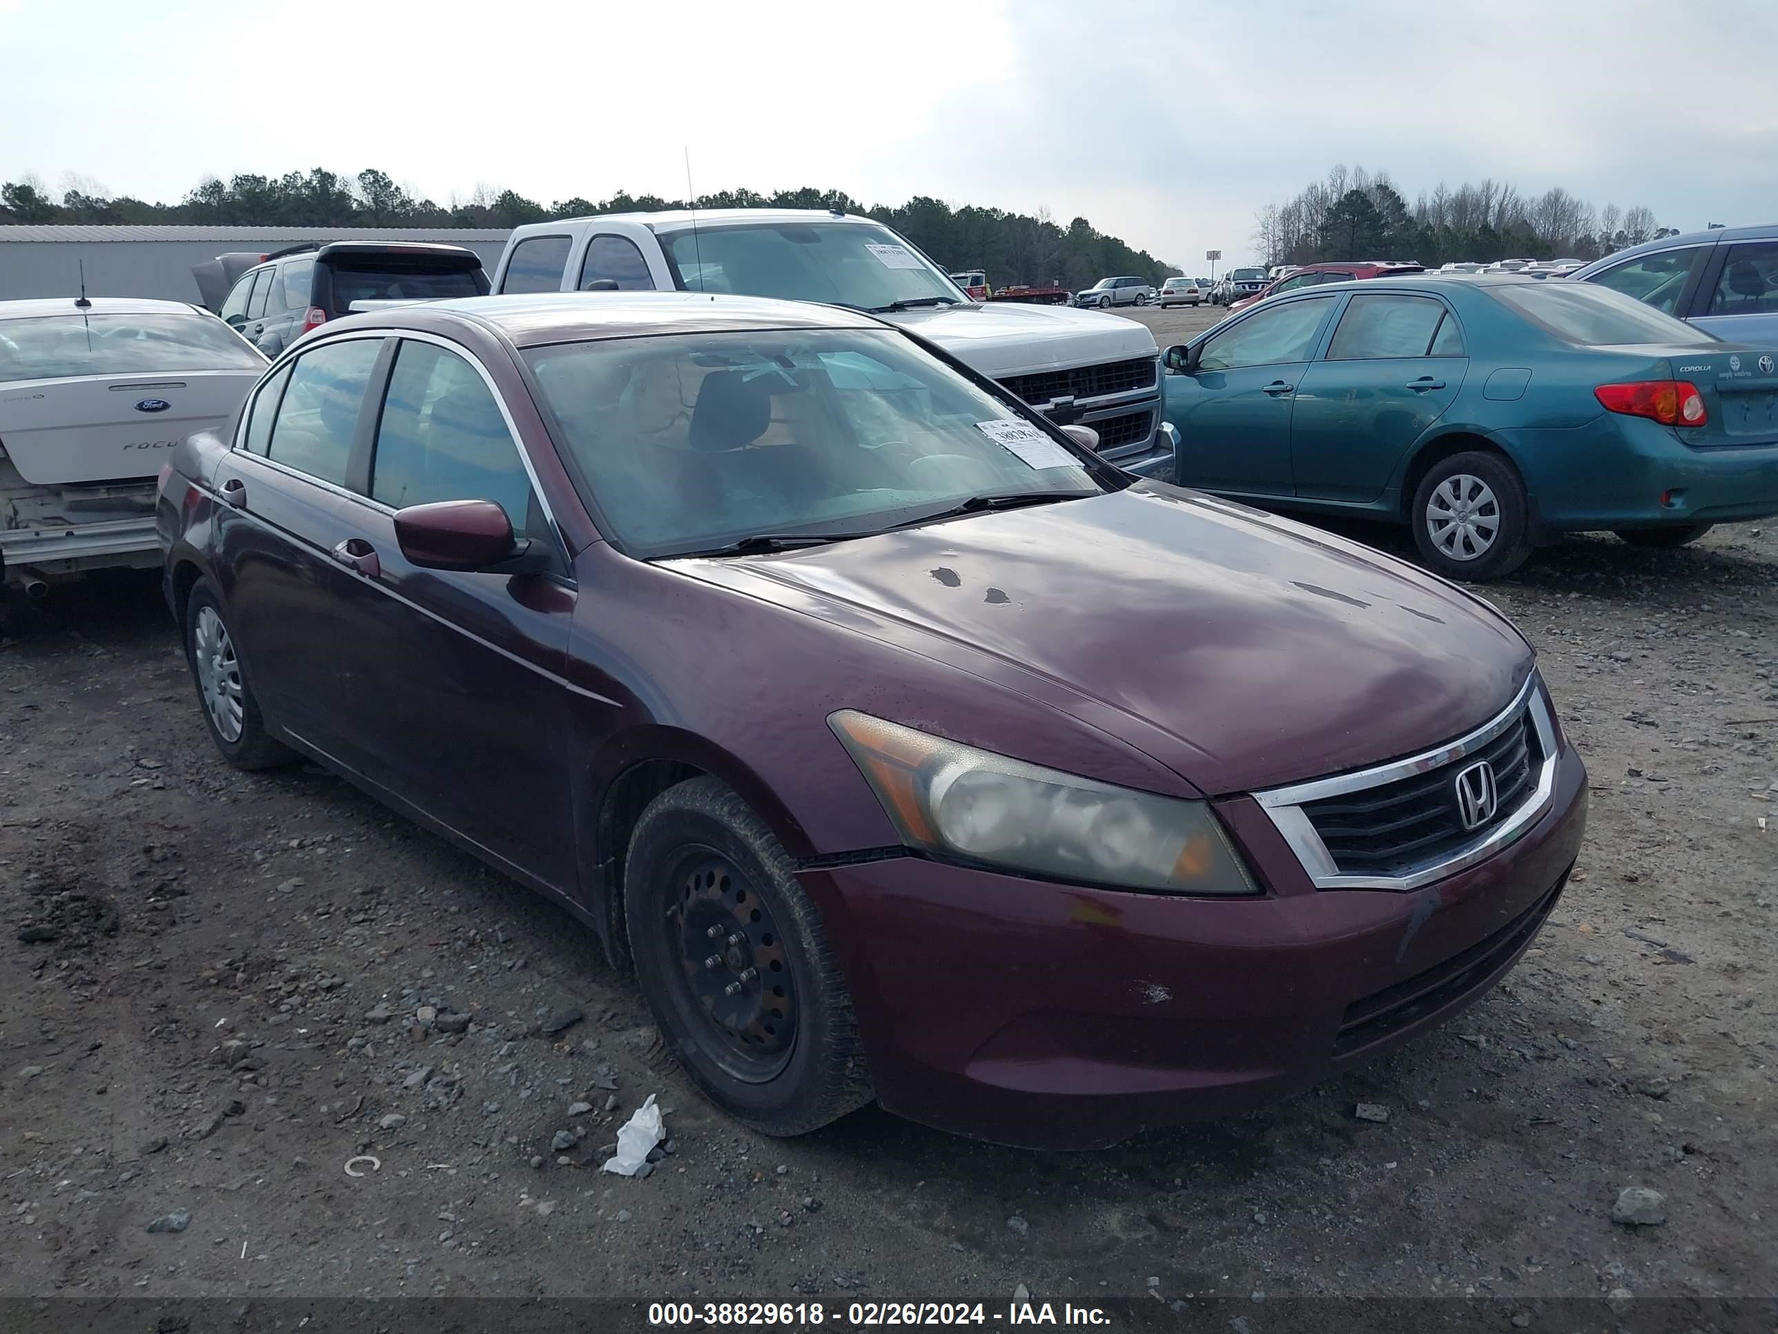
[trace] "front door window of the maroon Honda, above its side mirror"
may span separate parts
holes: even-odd
[[[493,500],[533,528],[532,478],[480,372],[455,352],[404,342],[377,425],[370,498],[384,505]]]

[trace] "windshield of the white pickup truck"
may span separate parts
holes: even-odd
[[[686,292],[820,301],[869,311],[907,301],[969,301],[946,274],[878,226],[745,222],[669,231],[660,240]]]

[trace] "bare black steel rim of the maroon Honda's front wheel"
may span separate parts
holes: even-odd
[[[797,987],[772,909],[749,875],[706,848],[688,850],[674,884],[669,930],[677,927],[692,1009],[727,1048],[724,1069],[770,1080],[797,1039]]]

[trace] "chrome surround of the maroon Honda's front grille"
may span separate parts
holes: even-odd
[[[1312,783],[1294,783],[1287,788],[1255,792],[1253,800],[1257,800],[1261,809],[1269,816],[1271,824],[1284,836],[1284,841],[1291,845],[1291,852],[1296,854],[1296,859],[1301,863],[1303,872],[1309,873],[1316,889],[1394,889],[1398,893],[1419,889],[1424,884],[1431,884],[1446,875],[1474,866],[1479,861],[1486,861],[1501,848],[1515,843],[1549,808],[1550,797],[1556,792],[1556,719],[1550,717],[1549,703],[1540,685],[1538,674],[1533,672],[1526,679],[1524,688],[1520,688],[1520,692],[1513,697],[1513,703],[1501,713],[1474,731],[1449,742],[1447,745],[1440,745],[1435,751],[1424,751],[1417,756],[1410,756],[1408,759],[1396,759],[1389,765],[1358,770],[1357,774],[1339,774],[1335,777],[1316,779]],[[1478,841],[1469,843],[1438,861],[1417,866],[1406,875],[1341,873],[1339,864],[1326,850],[1326,845],[1321,841],[1321,834],[1316,832],[1314,822],[1303,809],[1307,802],[1321,800],[1325,797],[1341,797],[1350,792],[1364,792],[1367,788],[1380,788],[1387,783],[1398,783],[1405,777],[1414,777],[1415,774],[1426,774],[1433,768],[1449,765],[1470,751],[1481,749],[1504,733],[1510,726],[1513,726],[1520,710],[1527,708],[1531,711],[1531,726],[1538,731],[1543,763],[1538,767],[1536,786],[1531,790],[1531,795],[1520,802],[1517,811],[1490,829]]]

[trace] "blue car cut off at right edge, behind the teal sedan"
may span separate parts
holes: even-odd
[[[1570,281],[1614,288],[1735,343],[1778,343],[1778,224],[1652,240]]]

